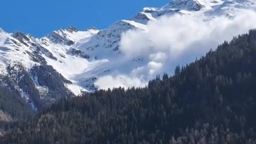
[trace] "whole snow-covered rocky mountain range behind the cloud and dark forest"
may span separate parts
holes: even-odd
[[[131,19],[118,21],[104,30],[80,31],[70,26],[42,38],[21,32],[8,34],[0,29],[1,85],[20,93],[34,109],[62,97],[90,92],[97,89],[94,83],[102,76],[127,74],[144,65],[154,65],[143,55],[124,57],[119,42],[125,31],[147,31],[148,21],[157,21],[162,15],[232,18],[243,10],[255,11],[255,2],[175,0],[161,8],[145,7]]]

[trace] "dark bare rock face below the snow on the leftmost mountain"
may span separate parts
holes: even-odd
[[[8,67],[9,76],[2,82],[10,90],[18,91],[27,103],[35,110],[49,106],[60,98],[72,97],[65,84],[71,84],[59,74],[52,66],[34,66],[30,71],[21,65]]]

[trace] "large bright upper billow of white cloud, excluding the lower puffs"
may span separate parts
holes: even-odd
[[[175,14],[149,21],[147,30],[128,30],[121,38],[120,48],[126,55],[154,54],[162,52],[177,59],[188,51],[217,47],[224,40],[246,33],[255,27],[256,15],[246,11],[235,18],[215,17],[208,19],[204,15],[191,16]]]

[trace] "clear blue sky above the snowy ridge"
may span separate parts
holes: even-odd
[[[0,2],[0,27],[42,37],[70,25],[104,29],[131,18],[143,7],[161,7],[171,0],[6,0]]]

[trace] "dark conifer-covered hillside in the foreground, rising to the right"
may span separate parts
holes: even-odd
[[[61,99],[0,143],[256,143],[256,30],[145,88]]]

